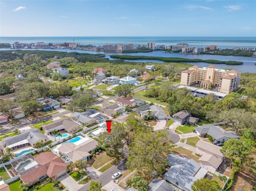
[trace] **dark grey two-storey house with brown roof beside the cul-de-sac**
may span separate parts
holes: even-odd
[[[183,125],[185,123],[190,125],[195,125],[198,122],[198,118],[195,118],[187,110],[179,111],[178,113],[172,115],[174,123]]]

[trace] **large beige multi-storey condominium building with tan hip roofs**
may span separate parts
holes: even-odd
[[[215,66],[208,67],[192,66],[181,72],[181,85],[190,86],[199,83],[201,88],[218,86],[219,92],[229,94],[240,84],[241,72],[236,70],[216,69]]]

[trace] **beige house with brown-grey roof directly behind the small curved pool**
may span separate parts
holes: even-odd
[[[42,125],[41,128],[47,133],[51,134],[53,130],[73,132],[80,129],[80,124],[76,123],[70,118],[59,119],[49,124]]]

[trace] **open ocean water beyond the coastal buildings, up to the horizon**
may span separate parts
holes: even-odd
[[[188,43],[189,46],[210,46],[217,45],[219,48],[233,48],[233,46],[256,46],[256,37],[194,37],[194,36],[61,36],[61,37],[0,37],[1,43],[53,43],[64,42],[80,44],[92,44],[96,46],[105,43],[133,43],[146,44],[153,42],[156,44],[175,45],[177,43]]]

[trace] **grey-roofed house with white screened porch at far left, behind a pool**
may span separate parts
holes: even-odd
[[[3,138],[2,141],[8,148],[14,150],[29,145],[34,147],[37,142],[46,143],[48,140],[37,128],[31,128],[26,131],[21,131],[19,135]]]

